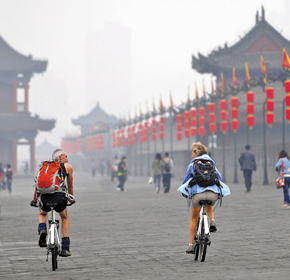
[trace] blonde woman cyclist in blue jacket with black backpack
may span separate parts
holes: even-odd
[[[210,158],[207,148],[200,142],[193,143],[191,162],[187,167],[187,173],[183,180],[183,185],[178,191],[188,199],[191,199],[191,221],[189,226],[189,246],[187,254],[193,254],[195,245],[194,238],[197,228],[198,215],[201,200],[209,200],[212,206],[206,207],[206,212],[210,219],[210,231],[215,232],[217,225],[214,220],[213,205],[223,196],[230,195],[229,187],[222,182],[222,177],[215,166],[215,162]]]

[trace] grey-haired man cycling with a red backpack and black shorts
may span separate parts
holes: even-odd
[[[35,191],[33,200],[30,205],[35,206],[37,203],[37,194],[40,195],[40,212],[39,212],[39,246],[46,247],[47,236],[47,212],[50,207],[46,203],[57,203],[54,208],[59,213],[62,221],[62,251],[63,257],[71,256],[70,239],[69,239],[69,218],[67,211],[67,194],[73,195],[73,168],[69,165],[67,154],[61,149],[52,153],[52,161],[42,163],[35,177]]]

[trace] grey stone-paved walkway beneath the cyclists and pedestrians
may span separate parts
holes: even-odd
[[[204,263],[186,255],[190,213],[176,192],[156,194],[148,178],[129,177],[126,192],[108,177],[75,174],[69,208],[70,258],[51,271],[37,246],[38,212],[29,206],[33,178],[17,177],[13,195],[0,192],[0,279],[289,279],[290,210],[282,190],[230,184],[217,208],[217,233]]]

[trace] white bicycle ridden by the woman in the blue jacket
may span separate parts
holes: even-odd
[[[201,262],[204,262],[207,246],[210,246],[210,229],[209,229],[209,217],[205,211],[206,206],[211,206],[212,201],[201,200],[199,202],[201,209],[198,215],[197,229],[194,238],[194,260],[197,261],[198,258]]]

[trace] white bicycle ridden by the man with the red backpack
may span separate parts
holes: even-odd
[[[75,198],[71,194],[66,194],[69,203],[67,206],[71,206],[75,203]],[[70,202],[72,201],[72,202]],[[42,202],[40,196],[34,207],[39,207]],[[57,256],[61,256],[61,242],[59,238],[59,220],[55,219],[55,206],[57,203],[46,203],[46,206],[50,207],[51,219],[48,220],[48,234],[46,236],[46,261],[48,261],[48,255],[51,253],[52,270],[58,269]]]

